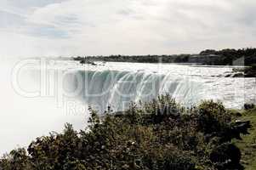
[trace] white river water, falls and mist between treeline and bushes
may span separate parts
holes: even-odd
[[[0,154],[37,136],[61,132],[65,122],[85,127],[88,105],[125,110],[131,101],[170,94],[182,105],[220,100],[228,108],[256,103],[255,78],[225,77],[231,66],[102,63],[21,59],[1,64]]]

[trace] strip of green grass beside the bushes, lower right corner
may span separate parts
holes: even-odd
[[[246,170],[256,169],[256,108],[249,111],[242,111],[240,117],[242,121],[250,121],[252,129],[249,130],[249,135],[242,136],[242,140],[234,139],[233,143],[242,152],[242,165]]]

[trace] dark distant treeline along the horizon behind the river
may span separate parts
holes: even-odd
[[[238,60],[237,59],[241,59]],[[175,55],[110,55],[75,57],[82,63],[88,61],[139,62],[139,63],[198,63],[202,65],[253,65],[256,64],[256,48],[207,49],[200,54]]]

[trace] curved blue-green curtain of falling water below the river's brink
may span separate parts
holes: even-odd
[[[73,84],[82,86],[77,97],[100,112],[108,106],[113,111],[123,111],[132,101],[146,102],[161,94],[170,94],[189,107],[202,99],[205,86],[191,77],[142,71],[74,71],[71,75],[80,77],[78,85]]]

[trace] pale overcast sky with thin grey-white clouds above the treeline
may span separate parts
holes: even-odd
[[[256,46],[255,0],[0,0],[0,56]]]

